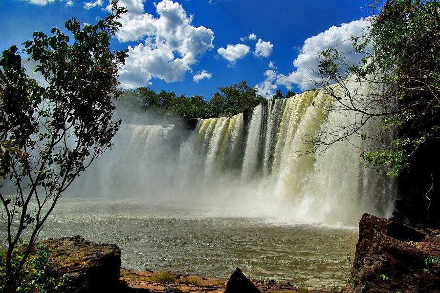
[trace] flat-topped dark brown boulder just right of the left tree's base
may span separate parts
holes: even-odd
[[[80,236],[44,242],[54,249],[51,259],[57,274],[70,275],[66,293],[118,292],[121,250],[117,245],[97,244]]]

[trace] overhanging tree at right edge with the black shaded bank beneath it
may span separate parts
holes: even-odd
[[[407,198],[402,209],[413,207],[406,214],[412,221],[440,225],[440,198],[431,196],[439,193],[440,181],[440,2],[379,4],[376,0],[371,5],[379,13],[371,18],[369,32],[352,37],[353,49],[363,55],[361,63],[347,62],[333,48],[321,53],[321,86],[335,101],[329,109],[352,112],[356,120],[322,133],[314,143],[326,148],[353,135],[382,140],[383,135],[372,136],[363,127],[380,121],[383,133],[393,134],[392,139],[383,147],[362,150],[366,166],[399,175],[399,195]],[[349,86],[351,82],[372,90],[361,94]]]

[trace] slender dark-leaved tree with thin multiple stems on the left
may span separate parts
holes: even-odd
[[[32,244],[61,194],[111,148],[121,124],[111,119],[112,99],[121,94],[116,78],[127,51],[112,52],[109,45],[126,10],[116,0],[111,4],[113,13],[95,25],[81,29],[77,19],[67,20],[72,42],[54,27],[53,36],[35,32],[33,41],[23,43],[47,86],[26,75],[15,45],[1,56],[0,200],[7,227],[1,241],[8,246],[3,292],[15,292]],[[13,263],[24,230],[29,245]]]

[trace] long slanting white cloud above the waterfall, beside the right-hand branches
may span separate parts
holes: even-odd
[[[288,75],[279,74],[276,83],[283,84],[288,89],[291,89],[293,84],[298,84],[302,90],[312,88],[313,81],[321,80],[316,74],[319,70],[319,54],[330,46],[337,49],[349,64],[359,63],[363,56],[353,52],[350,38],[352,35],[363,35],[369,24],[369,19],[342,23],[340,26],[332,26],[317,36],[308,38],[300,50],[300,55],[293,61],[296,70]]]

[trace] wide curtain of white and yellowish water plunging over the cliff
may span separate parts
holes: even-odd
[[[212,216],[353,226],[363,212],[389,216],[394,179],[366,169],[355,147],[375,142],[352,137],[313,152],[316,133],[356,119],[329,113],[333,102],[326,91],[310,90],[263,102],[247,124],[238,114],[199,119],[194,130],[125,126],[97,164],[101,180],[89,176],[88,187],[107,196],[202,205]]]

